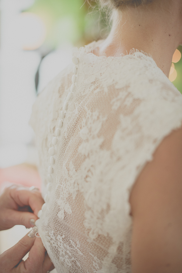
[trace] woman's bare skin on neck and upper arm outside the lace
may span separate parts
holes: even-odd
[[[150,53],[169,76],[182,44],[182,1],[157,0],[114,11],[113,27],[96,55],[119,56],[137,48]],[[182,272],[182,127],[163,139],[131,190],[132,273]]]

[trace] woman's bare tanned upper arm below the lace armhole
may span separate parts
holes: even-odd
[[[131,191],[132,273],[182,272],[182,127],[160,143]]]

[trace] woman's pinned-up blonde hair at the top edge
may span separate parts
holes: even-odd
[[[123,9],[126,7],[138,7],[140,5],[147,5],[153,2],[153,0],[99,0],[103,6],[107,6],[111,9]]]

